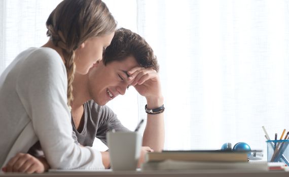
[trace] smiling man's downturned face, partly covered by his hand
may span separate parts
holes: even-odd
[[[124,95],[129,84],[127,71],[139,66],[133,56],[122,61],[113,61],[106,66],[100,61],[90,69],[88,91],[98,105],[105,105],[118,95]]]

